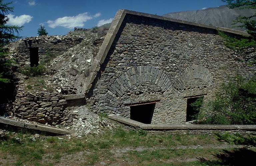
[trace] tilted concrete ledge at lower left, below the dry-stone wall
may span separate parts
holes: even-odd
[[[0,117],[0,123],[12,125],[16,127],[28,128],[32,130],[45,131],[45,132],[54,133],[54,134],[61,134],[61,135],[71,134],[71,132],[67,130],[57,129],[57,128],[43,126],[43,125],[36,125],[32,123],[20,122],[20,121],[16,121],[16,120],[4,118],[4,117]]]

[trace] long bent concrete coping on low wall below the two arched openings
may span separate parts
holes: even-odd
[[[256,125],[193,125],[193,124],[144,124],[118,115],[108,115],[109,119],[144,130],[253,130]]]

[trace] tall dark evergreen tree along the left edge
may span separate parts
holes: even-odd
[[[12,61],[6,58],[8,50],[4,46],[19,39],[19,31],[22,29],[19,26],[6,25],[9,21],[7,15],[13,12],[10,4],[11,2],[4,3],[0,0],[0,114],[10,108],[7,103],[11,103],[15,91],[11,70]]]

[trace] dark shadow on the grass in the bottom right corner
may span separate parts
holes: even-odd
[[[249,149],[235,149],[232,151],[223,150],[223,152],[216,154],[218,160],[210,161],[205,158],[198,158],[201,162],[213,165],[228,165],[228,166],[241,166],[251,165],[255,163],[256,152]]]

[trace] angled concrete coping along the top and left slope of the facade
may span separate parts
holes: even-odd
[[[111,23],[111,26],[105,36],[105,39],[99,49],[99,52],[98,52],[97,56],[94,58],[92,65],[90,67],[90,74],[87,77],[85,84],[84,84],[84,92],[85,93],[92,87],[92,83],[93,83],[94,79],[96,78],[98,71],[100,70],[100,65],[103,64],[126,14],[149,17],[149,18],[153,18],[153,19],[159,19],[159,20],[165,20],[165,21],[171,21],[171,22],[177,22],[177,23],[181,23],[181,24],[198,26],[198,27],[203,27],[203,28],[208,28],[208,29],[220,30],[223,32],[233,33],[236,35],[250,36],[246,32],[229,29],[229,28],[214,27],[214,26],[210,26],[210,25],[198,24],[198,23],[193,23],[193,22],[189,22],[189,21],[178,20],[178,19],[173,19],[173,18],[168,18],[168,17],[163,17],[163,16],[157,16],[157,15],[153,15],[153,14],[141,13],[141,12],[136,12],[136,11],[131,11],[131,10],[124,10],[124,9],[118,10],[112,23]]]

